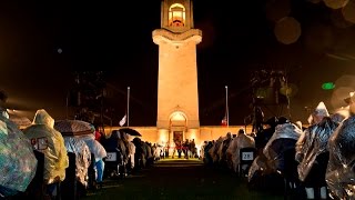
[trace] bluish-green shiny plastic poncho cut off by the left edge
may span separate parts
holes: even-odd
[[[16,123],[0,114],[0,186],[23,192],[36,169],[37,159],[30,140]]]

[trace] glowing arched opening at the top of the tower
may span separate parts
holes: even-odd
[[[180,3],[174,3],[169,9],[169,26],[184,27],[185,26],[185,8]]]

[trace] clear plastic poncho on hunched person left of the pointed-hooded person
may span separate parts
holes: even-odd
[[[278,147],[275,147],[275,146],[278,146],[278,144],[288,146],[288,144],[286,144],[286,142],[281,142],[281,143],[276,144],[276,140],[286,141],[285,139],[292,139],[292,140],[295,140],[295,142],[296,142],[298,140],[298,138],[301,137],[301,134],[302,134],[302,130],[293,123],[278,124],[275,128],[274,134],[271,137],[271,139],[266,143],[265,148],[263,149],[263,153],[272,162],[277,161],[278,159],[283,159],[282,158],[283,152],[275,151],[274,149],[278,149]],[[286,150],[290,148],[295,148],[295,146],[283,147],[282,149]],[[282,163],[280,163],[280,164],[282,164]],[[277,169],[277,166],[271,166],[271,167],[273,167],[274,169]]]

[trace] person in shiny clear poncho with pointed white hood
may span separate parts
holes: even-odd
[[[325,170],[327,164],[327,142],[338,123],[329,118],[324,104],[320,102],[312,113],[311,127],[300,137],[296,143],[298,178],[304,182],[307,199],[314,199],[314,188],[321,188],[321,198],[326,199]]]

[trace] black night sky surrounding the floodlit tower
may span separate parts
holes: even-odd
[[[298,88],[290,104],[294,120],[305,122],[304,107],[321,100],[329,111],[344,106],[342,98],[355,89],[354,81],[344,77],[355,76],[354,58],[344,58],[355,57],[355,26],[341,19],[339,9],[292,0],[288,16],[300,21],[302,34],[297,42],[283,44],[275,38],[271,17],[283,16],[285,1],[248,0],[235,6],[194,1],[195,28],[203,31],[197,46],[201,124],[220,124],[224,86],[229,86],[230,124],[243,123],[251,112],[251,72],[260,69],[288,72],[288,81]],[[130,124],[154,126],[158,46],[151,33],[160,28],[160,0],[2,2],[0,89],[13,108],[44,108],[62,119],[73,72],[102,71],[110,91],[106,99],[114,102],[113,119],[124,114],[130,86]],[[322,90],[327,81],[336,82],[335,90]]]

